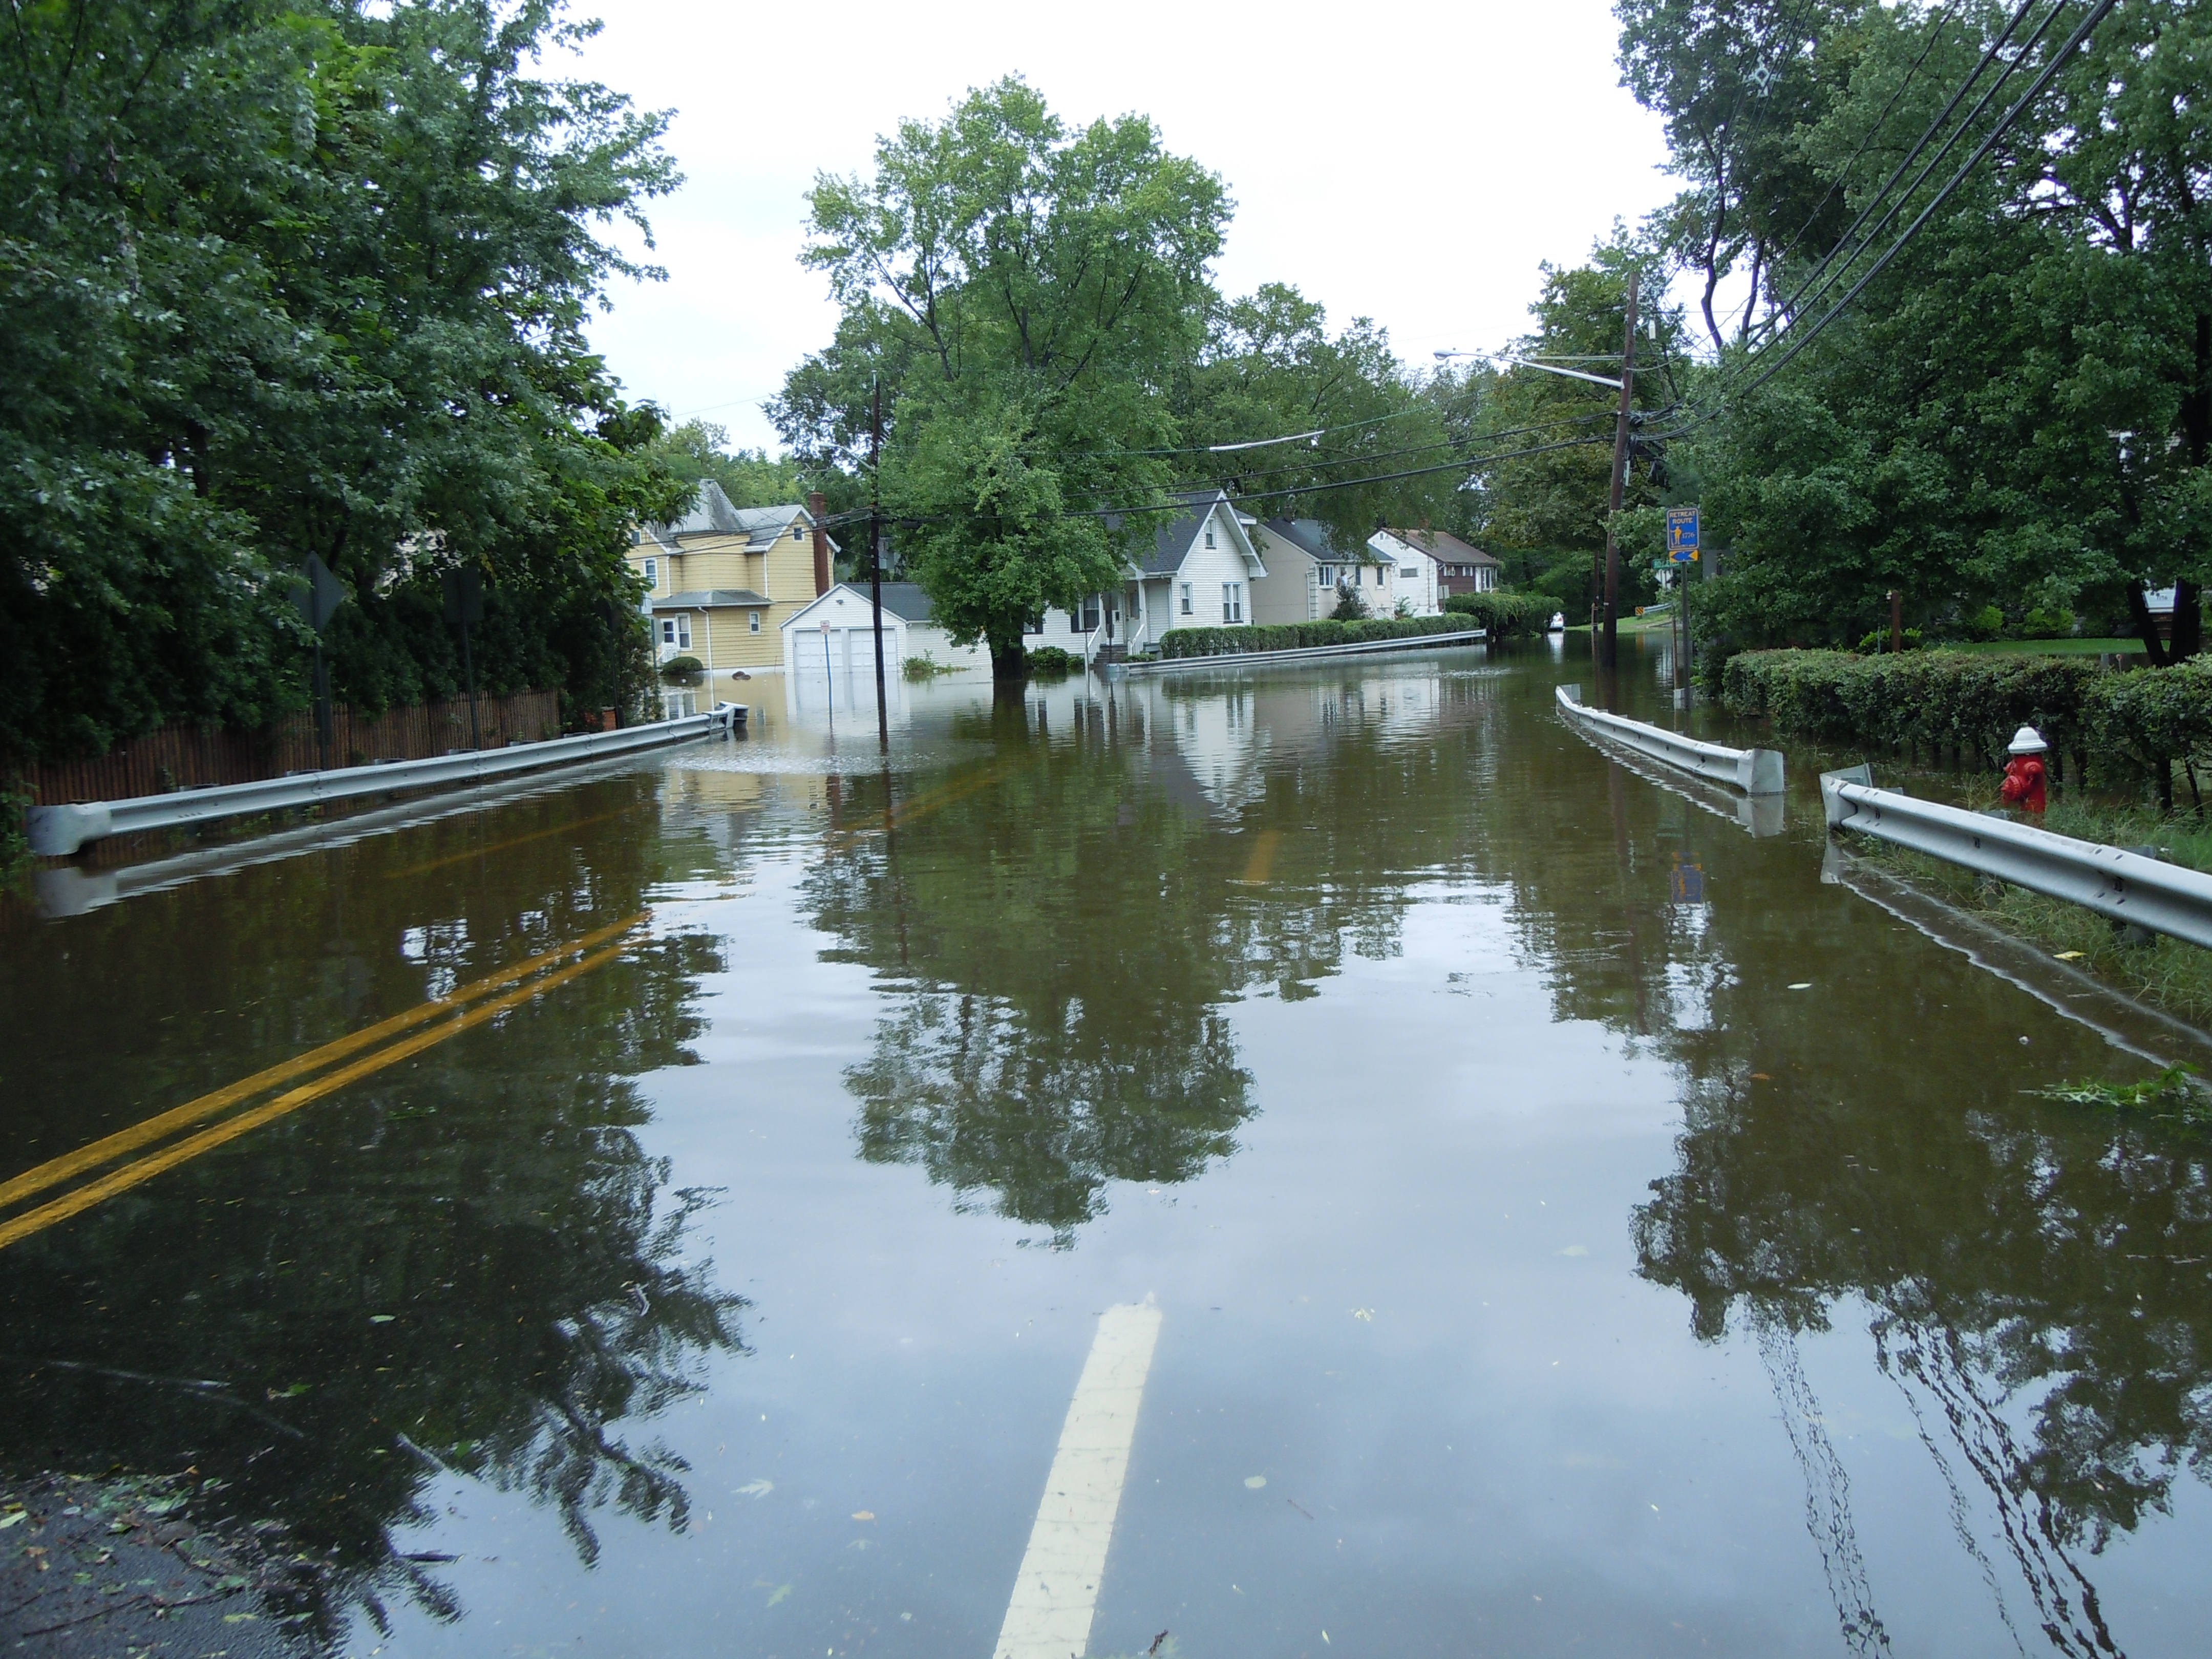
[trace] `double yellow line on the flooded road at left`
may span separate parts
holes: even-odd
[[[86,1186],[64,1192],[60,1199],[49,1199],[35,1210],[24,1210],[22,1214],[9,1221],[0,1221],[0,1250],[7,1250],[18,1239],[29,1239],[33,1232],[44,1232],[58,1221],[66,1221],[73,1214],[82,1214],[84,1210],[91,1210],[95,1203],[106,1203],[117,1192],[128,1192],[142,1181],[150,1181],[164,1170],[173,1170],[179,1164],[188,1164],[190,1159],[221,1146],[223,1141],[234,1141],[239,1135],[250,1135],[263,1124],[272,1124],[274,1119],[288,1113],[296,1113],[301,1106],[323,1099],[323,1095],[332,1095],[345,1088],[347,1084],[361,1082],[363,1077],[378,1073],[385,1066],[407,1060],[409,1055],[418,1055],[425,1048],[434,1048],[447,1037],[458,1037],[462,1031],[473,1031],[487,1020],[495,1020],[509,1009],[522,1006],[531,998],[544,995],[555,984],[566,984],[568,980],[582,973],[591,973],[591,969],[602,967],[604,962],[611,962],[617,956],[622,956],[630,947],[626,936],[633,933],[637,927],[641,927],[648,920],[648,916],[650,911],[639,911],[628,920],[613,922],[611,927],[599,927],[591,933],[584,933],[582,938],[571,940],[568,945],[562,945],[551,951],[540,951],[526,962],[515,962],[513,967],[500,969],[498,973],[476,980],[473,984],[465,984],[458,991],[436,998],[434,1002],[422,1002],[414,1009],[407,1009],[407,1013],[396,1013],[389,1020],[380,1020],[374,1026],[365,1026],[347,1037],[338,1037],[336,1042],[325,1042],[321,1048],[310,1048],[303,1055],[294,1055],[292,1060],[285,1060],[276,1066],[257,1071],[252,1077],[226,1084],[223,1088],[201,1095],[199,1099],[188,1099],[184,1106],[175,1106],[166,1113],[148,1117],[144,1124],[133,1124],[126,1130],[117,1130],[115,1135],[93,1141],[91,1146],[80,1146],[75,1152],[64,1152],[62,1157],[49,1159],[46,1164],[40,1164],[33,1170],[24,1170],[22,1175],[9,1181],[0,1181],[0,1210],[7,1210],[15,1203],[22,1203],[24,1199],[38,1197],[40,1192],[49,1192],[80,1175],[113,1164],[119,1157],[128,1157],[131,1152],[137,1152],[157,1141],[166,1141],[177,1130],[190,1128],[192,1124],[204,1124],[206,1119],[221,1115],[223,1110],[237,1106],[239,1102],[252,1099],[254,1095],[263,1095],[270,1088],[276,1088],[279,1084],[288,1084],[294,1077],[323,1071],[325,1066],[347,1060],[349,1055],[361,1055],[358,1060],[352,1060],[352,1064],[343,1064],[336,1071],[323,1071],[321,1077],[299,1084],[296,1088],[288,1088],[285,1093],[254,1106],[252,1110],[226,1117],[223,1121],[199,1130],[197,1135],[188,1135],[181,1141],[164,1146],[159,1152],[150,1152],[148,1157],[142,1157],[133,1164],[124,1164],[119,1170],[111,1170],[108,1175],[102,1175],[97,1181],[88,1181]],[[544,969],[553,971],[544,973]],[[504,991],[504,995],[491,995],[502,987],[515,987],[515,989]],[[484,1002],[484,998],[491,1000]],[[469,1006],[471,1002],[480,1006],[471,1009]],[[458,1009],[467,1009],[467,1013],[462,1013],[458,1020],[445,1018],[456,1013]],[[427,1029],[418,1031],[418,1026]],[[409,1031],[414,1035],[403,1035]],[[400,1040],[389,1042],[392,1037]]]

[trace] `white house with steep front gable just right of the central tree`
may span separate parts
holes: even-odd
[[[1252,544],[1250,518],[1228,491],[1181,495],[1181,511],[1159,513],[1152,542],[1124,562],[1121,588],[1088,595],[1075,613],[1048,608],[1024,644],[1079,655],[1119,648],[1144,653],[1177,628],[1239,628],[1252,617],[1252,591],[1267,564]]]

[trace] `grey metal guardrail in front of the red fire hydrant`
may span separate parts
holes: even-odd
[[[2212,947],[2212,876],[2148,854],[2075,841],[2011,818],[1876,790],[1874,770],[1820,774],[1829,830],[1893,841],[2046,898],[2064,898],[2115,922],[2135,922]]]

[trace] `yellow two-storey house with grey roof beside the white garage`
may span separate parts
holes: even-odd
[[[827,557],[836,557],[836,542]],[[646,524],[630,549],[646,582],[659,661],[697,657],[695,684],[664,684],[661,712],[701,714],[734,695],[732,675],[783,672],[783,619],[814,604],[814,520],[801,504],[732,507],[712,478],[672,524]]]

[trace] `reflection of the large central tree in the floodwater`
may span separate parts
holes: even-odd
[[[1079,706],[1060,734],[1000,703],[956,732],[991,759],[902,783],[889,834],[883,783],[847,781],[814,920],[902,998],[847,1073],[863,1155],[1060,1245],[1110,1181],[1228,1157],[1254,1104],[1219,1004],[1310,995],[1345,949],[1391,956],[1407,872],[1471,812],[1433,745],[1325,726],[1332,695],[1241,695],[1221,741],[1267,768],[1237,770],[1230,803],[1192,770],[1188,710],[1150,697]]]

